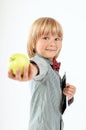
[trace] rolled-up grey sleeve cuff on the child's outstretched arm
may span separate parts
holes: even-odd
[[[34,77],[34,80],[42,80],[45,78],[48,72],[47,62],[39,57],[31,58],[31,62],[35,63],[39,69],[39,73]]]

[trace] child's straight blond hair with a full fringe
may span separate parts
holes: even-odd
[[[57,36],[63,39],[63,30],[58,21],[50,17],[42,17],[37,19],[31,26],[28,42],[27,42],[27,52],[28,56],[31,58],[36,54],[35,46],[37,40],[42,35],[57,34]]]

